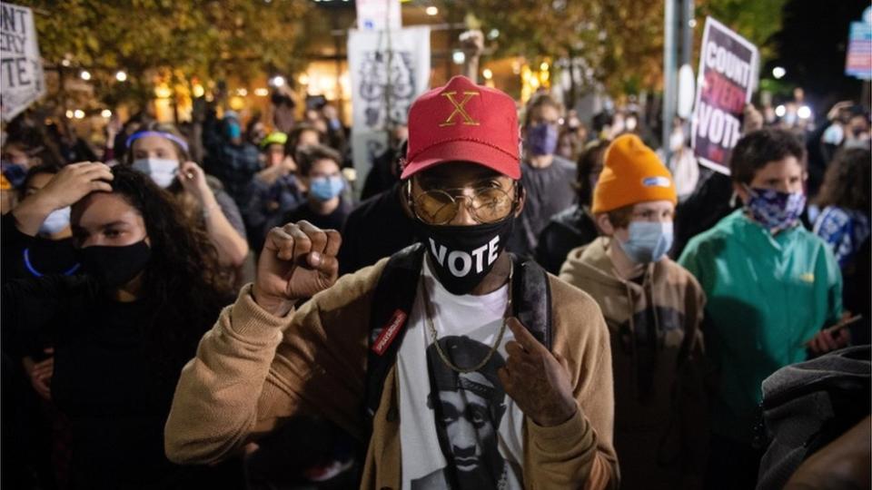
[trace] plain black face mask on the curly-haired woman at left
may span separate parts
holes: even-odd
[[[78,255],[85,274],[106,288],[120,288],[145,269],[152,250],[142,240],[124,247],[85,247]]]

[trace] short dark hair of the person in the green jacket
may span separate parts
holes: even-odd
[[[788,156],[796,157],[806,166],[806,149],[792,132],[764,128],[742,136],[729,158],[730,176],[734,182],[748,184],[754,175],[769,162],[778,162]]]

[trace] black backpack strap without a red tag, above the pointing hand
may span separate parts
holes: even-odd
[[[534,338],[551,349],[551,287],[548,273],[532,260],[512,255],[514,279],[512,309]]]

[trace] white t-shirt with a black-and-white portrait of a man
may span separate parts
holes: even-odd
[[[499,337],[508,286],[455,296],[435,279],[427,260],[421,273],[442,351],[459,368],[478,365]],[[402,488],[520,489],[524,416],[497,377],[511,330],[484,367],[461,374],[432,343],[423,294],[419,285],[397,354]]]

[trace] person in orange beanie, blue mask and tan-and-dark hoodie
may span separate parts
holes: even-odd
[[[609,326],[621,488],[701,488],[705,475],[705,295],[667,256],[676,201],[657,154],[639,136],[619,136],[593,192],[602,236],[560,269]]]

